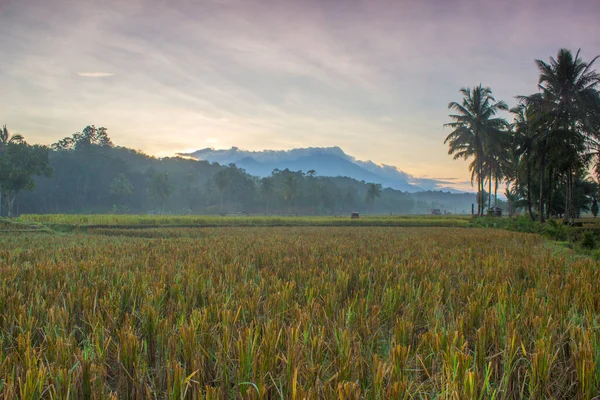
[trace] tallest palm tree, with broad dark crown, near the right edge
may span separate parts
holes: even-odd
[[[578,166],[587,163],[584,151],[596,142],[600,119],[600,74],[592,70],[596,56],[587,63],[567,49],[560,49],[550,62],[536,60],[540,72],[539,93],[521,96],[526,104],[540,110],[545,130],[539,140],[546,146],[560,149],[560,159],[566,175],[565,219],[572,222],[574,216],[573,188]],[[540,203],[543,202],[544,153],[541,154]],[[541,216],[542,213],[540,213]],[[543,217],[541,216],[542,220]]]

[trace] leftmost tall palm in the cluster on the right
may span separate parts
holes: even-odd
[[[448,143],[448,154],[453,154],[454,159],[474,158],[472,163],[472,177],[477,178],[477,191],[484,190],[484,163],[486,153],[490,145],[490,137],[507,126],[502,118],[496,118],[501,110],[507,110],[508,106],[503,101],[496,101],[489,87],[481,84],[473,89],[462,88],[460,93],[463,99],[460,103],[451,102],[448,109],[456,114],[450,114],[453,122],[444,126],[454,130],[446,137],[444,143]],[[483,215],[482,202],[478,202],[478,215]]]

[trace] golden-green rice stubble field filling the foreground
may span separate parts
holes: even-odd
[[[492,229],[5,234],[0,397],[590,399],[599,286]]]

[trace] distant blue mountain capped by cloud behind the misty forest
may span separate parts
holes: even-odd
[[[215,150],[205,148],[178,155],[221,165],[235,164],[249,174],[269,176],[274,169],[291,171],[315,170],[320,176],[347,176],[359,181],[380,183],[384,187],[418,192],[422,190],[450,190],[442,188],[433,179],[415,178],[392,165],[379,165],[373,161],[360,161],[339,147],[308,147],[293,150],[247,151],[237,147]]]

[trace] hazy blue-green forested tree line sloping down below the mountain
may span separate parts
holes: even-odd
[[[234,164],[182,157],[155,158],[115,146],[94,125],[49,147],[10,136],[0,148],[0,192],[20,213],[172,213],[346,215],[468,213],[474,195],[406,193],[348,177],[274,170],[255,177]],[[6,150],[1,150],[6,149]],[[21,157],[28,149],[31,156]],[[29,161],[25,161],[25,160]],[[19,161],[17,161],[19,160]],[[28,163],[27,168],[23,168]],[[9,171],[13,171],[10,172]],[[14,171],[19,171],[15,174]],[[17,184],[18,183],[18,184]],[[28,190],[25,190],[28,189]]]

